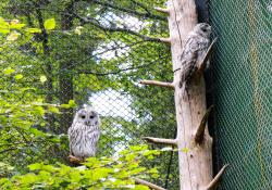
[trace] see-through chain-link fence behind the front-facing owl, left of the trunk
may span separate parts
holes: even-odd
[[[131,144],[144,143],[144,136],[174,138],[173,92],[139,85],[140,79],[166,81],[173,75],[170,48],[156,40],[168,36],[166,16],[154,12],[156,5],[163,2],[4,0],[0,12],[5,21],[25,23],[41,33],[22,33],[16,42],[5,43],[1,69],[15,68],[24,76],[12,86],[37,89],[21,99],[25,103],[38,97],[50,104],[74,100],[78,107],[92,105],[102,121],[97,156],[114,155]],[[52,18],[55,27],[46,28],[45,23]],[[46,81],[40,81],[41,76]],[[1,81],[4,89],[11,87],[4,78]],[[66,134],[76,109],[61,111],[46,114],[44,125],[36,128]],[[20,156],[33,156],[33,152],[22,152],[23,148],[21,153],[10,150],[2,159],[16,162]],[[67,149],[62,155],[57,153],[62,157],[67,154]],[[40,156],[55,156],[55,151]],[[146,164],[159,167],[156,183],[177,189],[176,153],[165,152]]]

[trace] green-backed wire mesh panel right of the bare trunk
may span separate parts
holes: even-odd
[[[272,3],[210,1],[221,189],[272,189]]]

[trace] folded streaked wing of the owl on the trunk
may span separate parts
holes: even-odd
[[[197,68],[199,52],[203,51],[203,46],[200,41],[199,36],[195,34],[189,35],[185,40],[183,53],[181,55],[181,86],[190,79]]]

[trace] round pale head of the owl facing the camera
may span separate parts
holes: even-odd
[[[76,112],[73,123],[79,123],[85,126],[98,126],[100,125],[100,119],[98,113],[91,106],[87,106]]]

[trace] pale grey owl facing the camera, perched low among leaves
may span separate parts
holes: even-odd
[[[71,154],[81,160],[95,156],[99,137],[100,119],[97,112],[90,106],[79,110],[69,128]]]

